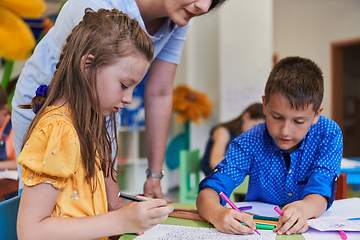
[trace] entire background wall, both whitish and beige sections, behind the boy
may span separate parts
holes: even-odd
[[[359,22],[358,0],[229,0],[215,13],[193,19],[175,85],[185,82],[206,92],[214,111],[209,122],[191,125],[191,148],[203,154],[211,126],[238,114],[225,101],[229,89],[241,91],[234,82],[246,85],[245,94],[260,91],[273,53],[319,64],[325,78],[323,115],[331,117],[330,44],[359,37]],[[169,138],[180,131],[173,122]]]

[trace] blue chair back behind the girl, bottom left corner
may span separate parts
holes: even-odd
[[[20,196],[0,202],[0,239],[17,240],[16,221]]]

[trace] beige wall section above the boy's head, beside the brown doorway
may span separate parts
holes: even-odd
[[[359,0],[274,0],[274,51],[314,60],[324,73],[322,115],[331,117],[331,42],[360,36]]]

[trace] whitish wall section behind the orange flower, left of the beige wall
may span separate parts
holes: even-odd
[[[214,105],[208,122],[191,124],[191,148],[201,155],[213,125],[261,101],[272,66],[272,7],[272,0],[229,0],[192,20],[175,86],[186,83],[205,92]],[[181,131],[173,122],[169,140]]]

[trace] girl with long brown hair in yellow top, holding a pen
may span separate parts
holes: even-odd
[[[57,70],[31,105],[36,113],[18,162],[25,186],[19,239],[108,239],[143,232],[164,221],[164,199],[129,202],[108,212],[104,176],[114,178],[106,116],[132,101],[153,58],[139,23],[116,9],[85,10],[67,37]],[[115,180],[114,180],[115,181]]]

